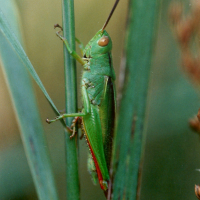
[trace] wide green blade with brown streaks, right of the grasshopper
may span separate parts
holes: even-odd
[[[114,150],[113,199],[137,198],[157,0],[131,0],[126,42],[126,72]]]

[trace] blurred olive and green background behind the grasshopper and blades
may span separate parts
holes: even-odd
[[[188,119],[193,117],[199,108],[199,95],[198,89],[194,88],[180,67],[179,49],[168,22],[168,8],[171,2],[162,1],[158,27],[155,27],[158,31],[148,96],[141,200],[196,199],[194,184],[200,183],[200,174],[196,171],[200,168],[200,139],[188,127]],[[190,2],[184,2],[186,8],[190,8]],[[62,23],[61,2],[18,0],[16,3],[27,55],[55,105],[62,110],[65,100],[63,45],[53,29],[55,23]],[[113,1],[107,0],[76,0],[76,37],[87,44],[102,27],[112,5]],[[1,9],[4,11],[3,7]],[[112,54],[117,83],[120,64],[124,62],[121,61],[121,57],[127,9],[128,0],[121,1],[107,27],[113,39]],[[79,86],[81,67],[77,67]],[[59,197],[65,199],[63,128],[61,123],[45,123],[47,117],[53,118],[55,115],[43,93],[34,82],[33,84],[51,153]],[[0,94],[0,199],[37,199],[1,69]],[[80,107],[80,93],[78,97]],[[87,172],[86,142],[81,140],[79,147],[81,199],[104,199],[103,192],[99,187],[93,186]]]

